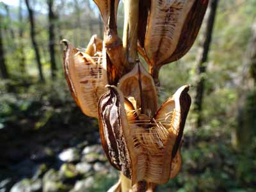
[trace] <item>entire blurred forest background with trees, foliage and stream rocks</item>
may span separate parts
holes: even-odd
[[[107,191],[118,173],[68,91],[60,44],[102,38],[99,11],[89,0],[11,1],[0,1],[0,191]],[[120,36],[123,15],[121,2]],[[182,171],[157,191],[255,192],[255,0],[211,0],[195,45],[161,70],[159,100],[183,84],[193,107]]]

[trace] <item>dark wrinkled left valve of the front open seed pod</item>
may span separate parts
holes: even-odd
[[[131,159],[124,132],[129,131],[124,109],[124,96],[114,86],[109,86],[99,100],[99,127],[102,147],[109,162],[124,175],[131,178]],[[131,106],[131,104],[127,104]],[[128,133],[129,134],[129,133]]]

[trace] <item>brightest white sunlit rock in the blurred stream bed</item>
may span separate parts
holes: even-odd
[[[71,163],[77,162],[80,159],[79,151],[76,148],[68,148],[63,150],[58,156],[61,161]]]

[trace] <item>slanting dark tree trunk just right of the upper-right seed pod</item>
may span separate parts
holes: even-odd
[[[204,83],[205,77],[202,76],[206,72],[206,62],[208,60],[208,53],[211,45],[212,31],[214,26],[214,20],[216,10],[218,6],[218,0],[211,0],[208,6],[208,11],[205,17],[205,26],[203,28],[202,39],[200,40],[201,47],[198,51],[197,73],[199,76],[198,83],[196,84],[196,95],[195,95],[195,112],[196,116],[196,127],[202,125],[202,102],[204,99]]]

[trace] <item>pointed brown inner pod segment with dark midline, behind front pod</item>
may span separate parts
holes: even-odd
[[[131,72],[125,74],[119,80],[118,88],[124,94],[124,97],[133,98],[136,102],[134,108],[139,109],[140,114],[147,115],[149,118],[154,116],[157,111],[156,87],[154,80],[139,60],[136,61],[136,65]]]

